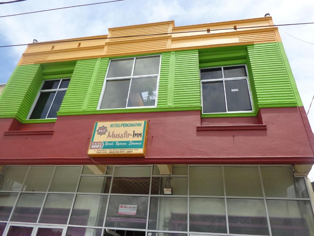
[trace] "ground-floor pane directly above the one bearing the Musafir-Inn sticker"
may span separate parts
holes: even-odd
[[[111,193],[149,194],[150,171],[151,167],[116,167]]]

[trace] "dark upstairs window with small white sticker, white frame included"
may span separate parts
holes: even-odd
[[[200,70],[203,114],[252,111],[245,65]]]

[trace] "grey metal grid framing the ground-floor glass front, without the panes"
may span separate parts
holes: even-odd
[[[42,166],[42,165],[39,165],[39,166]],[[67,167],[71,167],[71,165],[65,165]],[[72,165],[73,166],[73,165]],[[6,235],[6,233],[8,232],[8,229],[9,229],[9,226],[29,226],[29,227],[34,227],[34,232],[37,232],[38,228],[62,228],[63,229],[63,233],[62,233],[62,236],[65,235],[65,233],[67,232],[68,228],[69,227],[78,227],[78,228],[93,228],[93,229],[101,229],[102,230],[102,234],[105,232],[106,229],[117,229],[117,230],[129,230],[129,231],[144,231],[145,232],[145,236],[148,236],[148,233],[149,232],[160,232],[160,233],[180,233],[180,234],[187,234],[187,236],[192,236],[192,235],[216,235],[216,236],[248,236],[246,234],[232,234],[232,233],[229,233],[229,225],[228,225],[228,209],[227,209],[227,199],[262,199],[264,200],[264,204],[265,204],[265,212],[266,212],[266,217],[267,217],[267,224],[268,224],[268,230],[269,230],[269,235],[272,236],[272,232],[271,232],[271,228],[270,228],[270,222],[269,222],[269,216],[268,216],[268,209],[267,209],[267,202],[266,200],[304,200],[304,201],[309,201],[310,202],[310,205],[311,205],[311,210],[314,214],[314,209],[313,209],[313,203],[311,201],[311,198],[310,198],[310,192],[309,192],[309,186],[308,184],[306,183],[306,177],[298,177],[298,178],[303,178],[304,181],[305,181],[305,184],[306,184],[306,190],[307,190],[307,193],[308,193],[308,198],[282,198],[282,197],[266,197],[265,196],[265,191],[264,191],[264,186],[263,186],[263,179],[262,179],[262,174],[261,174],[261,167],[269,167],[269,168],[272,168],[272,167],[290,167],[291,170],[292,169],[292,166],[289,166],[289,165],[273,165],[273,166],[268,166],[268,165],[187,165],[187,175],[153,175],[153,165],[136,165],[137,167],[151,167],[151,174],[150,174],[150,187],[149,187],[149,194],[112,194],[111,193],[111,189],[112,189],[112,184],[113,184],[113,178],[115,177],[115,168],[116,167],[119,167],[119,166],[113,166],[113,173],[112,174],[102,174],[102,175],[98,175],[98,174],[83,174],[82,171],[83,171],[83,167],[84,166],[80,166],[81,167],[81,174],[79,175],[78,177],[78,182],[76,184],[76,190],[75,192],[49,192],[49,188],[51,186],[51,183],[52,183],[52,179],[53,179],[53,176],[55,174],[55,171],[56,171],[56,168],[58,166],[52,166],[54,167],[54,170],[52,172],[52,175],[51,175],[51,178],[50,178],[50,182],[48,184],[48,187],[47,187],[47,191],[45,192],[34,192],[34,191],[23,191],[23,187],[24,187],[24,184],[25,184],[25,180],[27,179],[28,177],[28,174],[30,172],[30,168],[32,166],[27,166],[28,167],[28,170],[26,171],[26,174],[25,174],[25,177],[24,177],[24,180],[23,180],[23,183],[21,185],[21,188],[19,191],[8,191],[8,190],[0,190],[0,193],[18,193],[18,196],[16,197],[15,199],[15,202],[14,202],[14,205],[13,205],[13,208],[11,210],[11,213],[10,213],[10,216],[9,216],[9,220],[8,221],[0,221],[0,223],[6,223],[6,227],[5,227],[5,230],[4,230],[4,234],[3,235]],[[223,185],[224,185],[224,196],[208,196],[208,195],[190,195],[189,194],[189,167],[190,166],[218,166],[218,167],[221,167],[221,170],[222,170],[222,175],[223,175]],[[224,166],[235,166],[235,167],[257,167],[258,168],[258,173],[259,173],[259,178],[260,178],[260,182],[261,182],[261,187],[262,187],[262,192],[263,192],[263,196],[262,197],[237,197],[237,196],[227,196],[226,195],[226,187],[225,187],[225,173],[224,173]],[[5,166],[6,168],[7,166]],[[73,167],[78,167],[78,166],[73,166]],[[125,167],[125,166],[124,166]],[[128,167],[134,167],[134,166],[128,166]],[[4,171],[5,172],[5,169]],[[291,173],[292,174],[292,173]],[[99,177],[111,177],[111,183],[110,183],[110,190],[109,190],[109,193],[108,194],[105,194],[105,193],[84,193],[84,192],[78,192],[78,186],[79,186],[79,183],[80,183],[80,179],[82,176],[99,176]],[[162,194],[151,194],[151,184],[152,184],[152,178],[153,177],[187,177],[187,195],[162,195]],[[40,209],[40,213],[38,215],[38,218],[37,218],[37,222],[34,223],[34,222],[13,222],[13,221],[10,221],[12,215],[13,215],[13,212],[17,206],[17,203],[18,203],[18,200],[20,198],[20,195],[22,193],[32,193],[32,194],[45,194],[45,197],[44,197],[44,200],[43,200],[43,203],[41,205],[41,209]],[[41,217],[41,213],[42,213],[42,210],[43,210],[43,207],[46,203],[46,199],[47,199],[47,196],[48,194],[73,194],[73,201],[72,201],[72,204],[71,204],[71,208],[70,208],[70,212],[69,212],[69,216],[68,216],[68,221],[67,221],[67,224],[47,224],[47,223],[39,223],[39,219]],[[72,211],[73,211],[73,208],[74,208],[74,203],[75,203],[75,199],[77,197],[78,194],[85,194],[85,195],[107,195],[108,196],[108,199],[107,199],[107,205],[106,205],[106,211],[105,211],[105,216],[104,216],[104,222],[103,222],[103,225],[102,227],[97,227],[97,226],[83,226],[83,225],[71,225],[69,224],[70,222],[70,218],[71,218],[71,215],[72,215]],[[115,227],[105,227],[105,223],[106,223],[106,217],[107,217],[107,212],[108,212],[108,206],[109,206],[109,201],[110,201],[110,196],[145,196],[145,197],[148,197],[148,208],[147,208],[147,217],[146,217],[146,228],[145,229],[139,229],[139,228],[115,228]],[[151,197],[165,197],[165,198],[169,198],[169,197],[180,197],[180,198],[185,198],[187,199],[187,231],[170,231],[170,230],[151,230],[151,229],[148,229],[148,224],[149,224],[149,211],[150,211],[150,199]],[[226,225],[227,225],[227,233],[208,233],[208,232],[191,232],[190,229],[189,229],[189,200],[190,198],[221,198],[221,199],[224,199],[225,200],[225,213],[226,213]],[[159,208],[158,208],[159,209]],[[159,212],[159,210],[158,210]],[[252,236],[252,235],[251,235]],[[260,235],[255,235],[255,236],[260,236]]]

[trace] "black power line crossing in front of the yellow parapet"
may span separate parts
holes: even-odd
[[[118,0],[118,1],[123,1],[123,0]],[[307,25],[307,24],[314,24],[314,22],[294,23],[294,24],[281,24],[281,25],[266,25],[266,26],[265,25],[246,26],[246,27],[238,27],[237,29],[261,28],[261,27],[268,27],[268,26]],[[219,31],[219,30],[234,30],[234,28],[213,29],[213,30],[210,30],[210,31]],[[88,41],[88,40],[95,40],[95,39],[132,38],[132,37],[158,36],[158,35],[194,33],[194,32],[207,32],[207,30],[181,31],[181,32],[172,32],[172,33],[156,33],[156,34],[140,34],[140,35],[116,36],[116,37],[99,37],[99,38],[92,38],[92,39],[91,38],[87,38],[87,39],[72,39],[72,40],[61,40],[61,41],[56,41],[56,42],[36,42],[34,44],[50,44],[50,43],[60,43],[60,42]],[[4,45],[4,46],[0,46],[0,48],[16,47],[16,46],[26,46],[26,45],[29,45],[29,44],[30,43],[15,44],[15,45]]]

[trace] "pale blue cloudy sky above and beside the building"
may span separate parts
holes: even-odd
[[[27,0],[0,5],[0,15],[66,7],[104,0]],[[275,24],[314,22],[314,1],[125,0],[93,6],[0,18],[0,45],[104,35],[108,28],[175,20],[176,26],[263,17]],[[281,26],[283,31],[314,43],[314,25]],[[314,45],[279,31],[307,111],[314,94]],[[6,83],[26,46],[0,48],[0,83]],[[314,127],[314,106],[309,113]],[[314,180],[314,171],[312,175]]]

